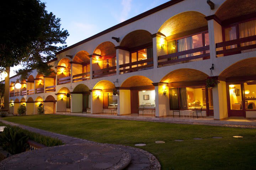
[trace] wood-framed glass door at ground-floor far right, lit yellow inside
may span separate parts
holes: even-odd
[[[229,84],[227,91],[229,117],[245,117],[244,84]]]

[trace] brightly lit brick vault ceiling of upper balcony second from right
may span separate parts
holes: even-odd
[[[206,16],[196,11],[182,12],[165,21],[158,32],[168,37],[198,28],[208,29],[208,22],[204,17]]]

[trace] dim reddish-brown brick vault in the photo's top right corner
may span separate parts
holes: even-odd
[[[217,10],[215,15],[220,20],[250,15],[256,12],[256,1],[252,0],[226,0]]]

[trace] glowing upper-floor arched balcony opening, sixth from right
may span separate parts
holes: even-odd
[[[57,69],[57,85],[70,83],[70,60],[62,58],[55,68]]]

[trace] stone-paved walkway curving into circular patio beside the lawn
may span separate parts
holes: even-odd
[[[12,126],[19,126],[20,128],[27,129],[29,131],[36,132],[45,136],[59,138],[66,144],[63,146],[47,147],[37,151],[28,151],[14,155],[1,162],[0,170],[113,170],[123,169],[124,167],[126,167],[127,170],[161,169],[160,163],[155,158],[155,156],[149,152],[144,151],[143,149],[123,145],[92,142],[80,138],[32,128],[30,126],[12,123],[2,119],[0,119],[0,121],[2,123]],[[94,150],[95,152],[92,152]]]

